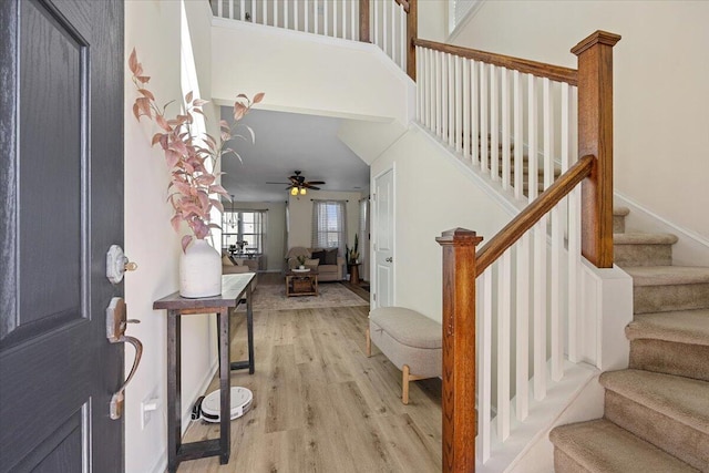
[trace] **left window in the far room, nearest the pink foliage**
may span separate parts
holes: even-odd
[[[238,253],[263,254],[267,210],[228,210],[222,215],[222,247]]]

